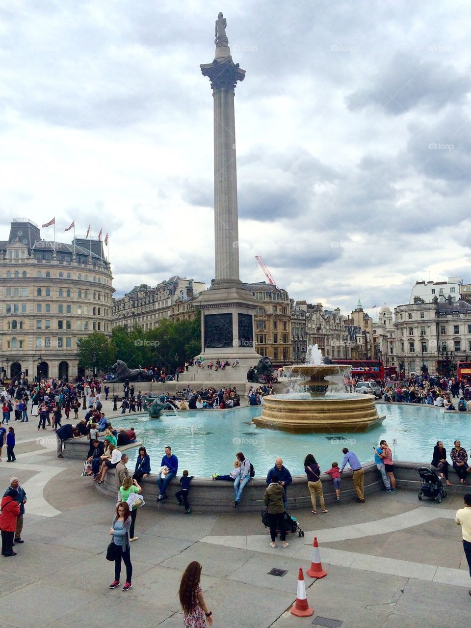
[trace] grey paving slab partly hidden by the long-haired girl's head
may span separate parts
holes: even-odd
[[[203,566],[204,575],[225,578],[238,567],[245,565],[254,555],[251,551],[218,547],[206,543],[194,543],[179,555],[164,561],[163,566],[184,571],[189,563],[197,560]]]

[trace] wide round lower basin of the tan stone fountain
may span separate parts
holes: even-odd
[[[369,394],[332,394],[312,397],[309,393],[274,394],[263,398],[262,416],[253,418],[257,427],[295,432],[364,432],[384,420]]]

